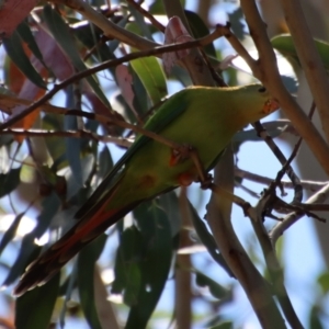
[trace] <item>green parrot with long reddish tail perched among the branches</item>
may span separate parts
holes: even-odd
[[[277,102],[260,84],[192,87],[170,97],[144,128],[177,145],[193,147],[208,171],[238,131],[277,109]],[[22,295],[47,282],[83,246],[139,203],[197,179],[198,170],[191,158],[139,135],[78,211],[76,225],[27,266],[14,294]]]

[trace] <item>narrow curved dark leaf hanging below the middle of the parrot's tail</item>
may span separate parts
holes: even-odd
[[[78,256],[78,290],[80,303],[90,328],[101,329],[99,315],[94,304],[94,266],[99,259],[107,236],[101,235],[98,239],[86,246]]]

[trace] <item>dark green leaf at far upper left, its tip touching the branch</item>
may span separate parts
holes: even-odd
[[[22,39],[18,31],[14,31],[14,33],[9,38],[3,38],[2,42],[8,56],[23,72],[23,75],[35,86],[42,89],[47,89],[43,78],[35,70],[34,66],[31,64],[29,57],[26,56],[22,46]]]

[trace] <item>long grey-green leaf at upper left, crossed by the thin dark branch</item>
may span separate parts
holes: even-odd
[[[78,71],[87,70],[84,63],[82,61],[80,54],[77,49],[75,39],[72,38],[71,32],[67,24],[64,22],[61,16],[56,10],[53,10],[50,5],[44,7],[44,18],[49,27],[54,38],[60,45],[66,55],[70,58],[73,66]],[[102,92],[100,86],[93,77],[86,78],[92,90],[99,97],[99,99],[109,107],[111,107],[107,98]]]

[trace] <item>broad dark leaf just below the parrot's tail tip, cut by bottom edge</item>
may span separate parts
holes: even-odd
[[[57,273],[45,285],[35,287],[16,299],[16,329],[49,328],[58,294],[59,279],[60,274]]]

